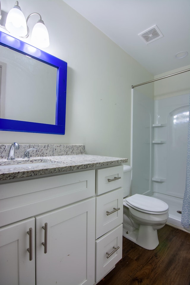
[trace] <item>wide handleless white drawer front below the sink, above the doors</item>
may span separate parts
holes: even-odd
[[[0,184],[0,227],[95,195],[95,170]]]

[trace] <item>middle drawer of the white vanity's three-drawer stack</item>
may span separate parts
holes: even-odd
[[[123,188],[96,197],[96,239],[122,222]]]

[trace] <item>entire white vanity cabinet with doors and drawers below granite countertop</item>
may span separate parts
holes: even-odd
[[[122,221],[123,165],[0,181],[0,285],[96,284]]]

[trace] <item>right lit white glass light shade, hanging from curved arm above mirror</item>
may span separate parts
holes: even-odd
[[[49,34],[43,23],[35,24],[31,34],[31,43],[35,47],[48,47],[50,45]]]

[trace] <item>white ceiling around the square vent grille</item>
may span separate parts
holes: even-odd
[[[64,0],[153,75],[190,64],[189,0]],[[157,26],[163,37],[138,34]],[[150,39],[150,37],[149,37]],[[176,59],[175,54],[188,52]],[[181,55],[181,54],[180,54]]]

